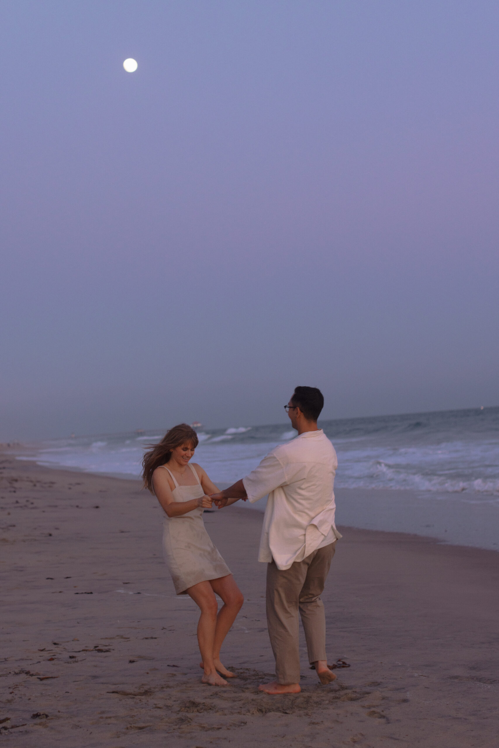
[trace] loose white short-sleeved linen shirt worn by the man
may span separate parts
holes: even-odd
[[[336,452],[322,429],[275,447],[242,479],[253,503],[269,494],[258,560],[281,571],[334,543]]]

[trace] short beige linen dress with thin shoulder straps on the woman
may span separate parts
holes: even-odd
[[[168,470],[166,465],[161,467]],[[168,470],[175,484],[172,491],[175,501],[190,501],[204,496],[198,473],[190,464],[189,468],[194,473],[197,485],[179,485],[171,470]],[[180,517],[165,514],[163,551],[177,595],[186,595],[186,590],[194,584],[227,577],[232,573],[206,533],[202,507]]]

